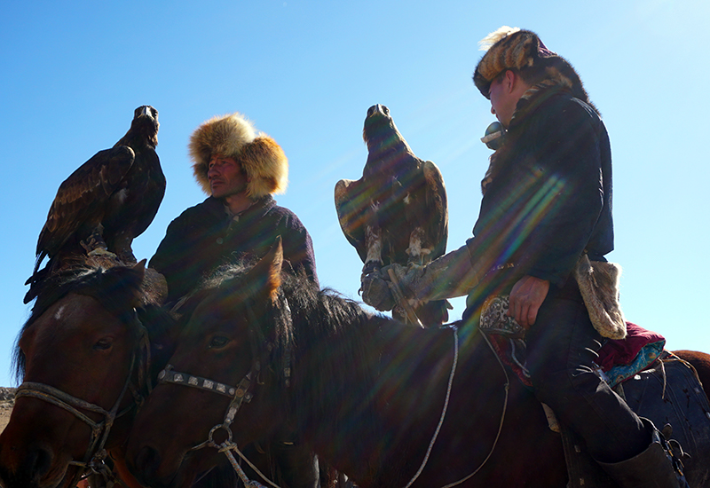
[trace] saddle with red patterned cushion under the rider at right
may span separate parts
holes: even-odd
[[[489,338],[501,361],[532,388],[525,367],[524,331],[507,316],[507,303],[487,305],[479,321],[481,332]],[[710,404],[693,366],[664,350],[665,342],[662,336],[627,322],[626,339],[610,340],[599,351],[596,374],[637,415],[662,429],[667,440],[680,443],[683,451],[690,454],[683,460],[685,477],[690,486],[701,486],[710,481]],[[567,487],[617,488],[587,453],[584,440],[560,424],[547,405],[543,407],[550,429],[562,437]]]

